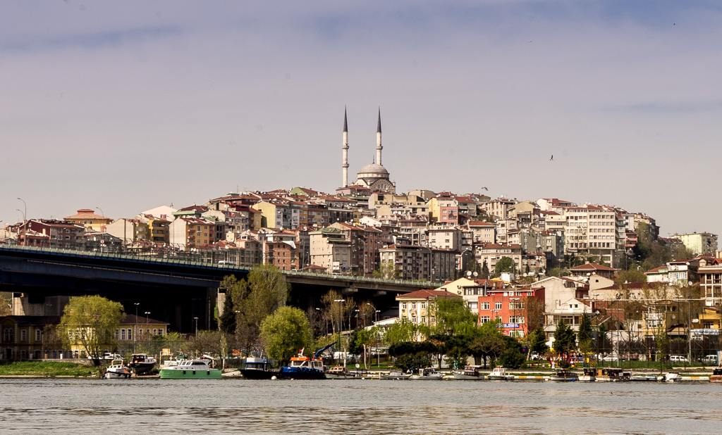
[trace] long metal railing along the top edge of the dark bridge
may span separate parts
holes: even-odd
[[[79,246],[82,247],[82,246]],[[37,252],[48,252],[52,254],[59,254],[65,256],[77,256],[77,257],[96,257],[100,259],[121,259],[123,261],[134,261],[134,262],[155,262],[165,264],[183,264],[184,266],[195,266],[195,267],[213,267],[214,269],[227,269],[232,272],[248,272],[248,268],[243,266],[236,266],[230,264],[225,260],[216,260],[219,258],[217,255],[210,253],[214,251],[204,252],[188,252],[188,251],[171,251],[171,252],[118,252],[118,251],[103,251],[102,248],[88,248],[84,246],[83,249],[67,249],[67,248],[56,248],[52,246],[22,246],[22,245],[0,245],[0,251],[37,251]],[[339,275],[339,274],[318,274],[315,272],[302,272],[302,271],[282,271],[284,274],[293,275],[297,277],[310,277],[318,279],[337,279],[339,281],[355,281],[355,282],[378,282],[383,284],[399,284],[399,285],[411,285],[419,287],[419,285],[425,287],[440,287],[439,282],[420,281],[411,279],[386,279],[376,277],[357,277],[355,275]]]

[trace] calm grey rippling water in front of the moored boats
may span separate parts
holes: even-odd
[[[0,380],[0,433],[718,434],[722,385]]]

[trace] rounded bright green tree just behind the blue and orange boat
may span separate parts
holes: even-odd
[[[305,313],[288,306],[279,308],[261,322],[261,338],[269,356],[282,365],[287,365],[299,349],[313,343]]]

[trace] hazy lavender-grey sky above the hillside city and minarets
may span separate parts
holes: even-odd
[[[721,77],[716,1],[7,0],[0,220],[334,192],[345,107],[351,181],[380,109],[399,192],[720,234]]]

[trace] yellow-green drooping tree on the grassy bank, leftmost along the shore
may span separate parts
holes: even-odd
[[[67,344],[79,344],[99,366],[103,350],[116,346],[116,328],[124,316],[119,302],[97,295],[74,296],[65,305],[60,328]]]

